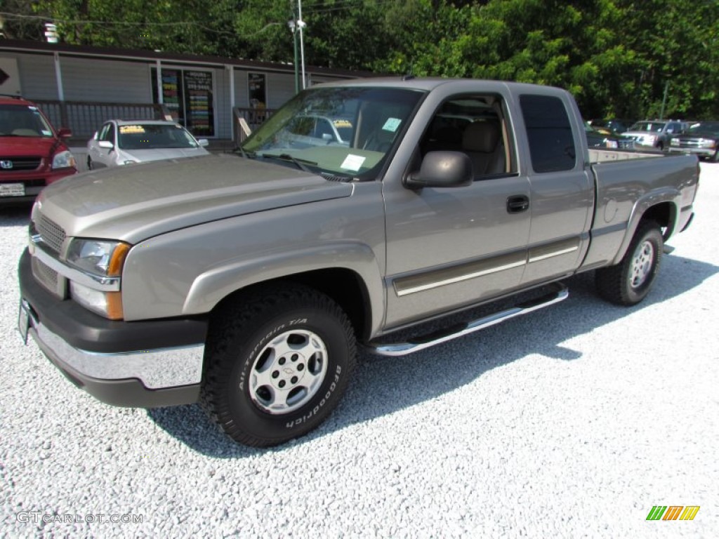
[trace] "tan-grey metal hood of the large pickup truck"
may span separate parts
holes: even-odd
[[[352,194],[352,185],[301,170],[206,155],[86,172],[48,186],[37,213],[66,236],[130,244],[208,221]]]

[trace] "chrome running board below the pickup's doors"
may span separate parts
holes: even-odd
[[[459,324],[459,326],[455,324],[451,328],[411,338],[403,343],[377,345],[370,343],[365,346],[367,351],[370,351],[372,354],[380,356],[405,356],[406,354],[411,354],[413,352],[429,348],[430,346],[452,341],[455,338],[474,333],[475,331],[480,331],[480,329],[494,326],[495,324],[507,321],[510,318],[531,313],[533,310],[549,307],[549,305],[554,305],[554,303],[559,303],[560,301],[567,299],[569,290],[567,290],[566,286],[564,286],[561,282],[557,282],[554,283],[552,287],[554,287],[554,290],[546,295],[534,300],[518,303],[512,308],[500,310],[498,313],[483,316],[475,321],[462,323]]]

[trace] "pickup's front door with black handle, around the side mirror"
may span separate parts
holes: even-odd
[[[436,88],[408,131],[383,183],[387,236],[386,326],[471,305],[520,285],[530,235],[531,185],[518,170],[516,141],[502,83],[454,83]],[[457,88],[466,91],[457,92]],[[434,150],[465,152],[472,184],[406,188]],[[410,157],[411,156],[411,157]]]

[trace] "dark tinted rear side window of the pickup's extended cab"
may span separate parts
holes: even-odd
[[[572,124],[562,100],[553,96],[519,97],[534,172],[572,170],[577,164]]]

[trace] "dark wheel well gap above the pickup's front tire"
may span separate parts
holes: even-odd
[[[329,268],[296,273],[279,277],[278,279],[258,282],[228,295],[215,305],[213,313],[226,305],[226,303],[240,300],[242,295],[250,291],[262,289],[263,287],[272,287],[279,282],[296,282],[328,295],[347,313],[357,338],[362,339],[363,336],[367,335],[371,324],[369,295],[359,275],[345,268]]]

